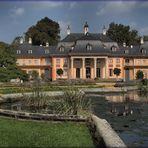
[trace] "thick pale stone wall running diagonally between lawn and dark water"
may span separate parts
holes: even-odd
[[[105,119],[100,119],[95,115],[91,115],[90,126],[95,143],[99,147],[127,147]]]

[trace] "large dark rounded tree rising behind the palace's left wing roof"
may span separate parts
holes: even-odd
[[[31,37],[33,45],[46,45],[46,42],[49,42],[49,45],[56,45],[60,39],[59,33],[59,24],[45,17],[28,29],[25,39]]]

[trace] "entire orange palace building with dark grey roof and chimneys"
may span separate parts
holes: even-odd
[[[36,70],[52,80],[113,79],[114,68],[121,69],[118,78],[123,80],[136,79],[138,70],[148,78],[148,42],[143,38],[138,46],[127,47],[108,38],[105,27],[102,33],[90,33],[86,22],[83,29],[83,33],[71,33],[68,26],[67,36],[57,46],[34,46],[31,38],[28,42],[21,39],[16,50],[18,66],[28,74]]]

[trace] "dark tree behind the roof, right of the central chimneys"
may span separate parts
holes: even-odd
[[[140,41],[137,30],[131,30],[130,26],[115,24],[114,22],[109,24],[107,36],[117,43],[123,44],[125,42],[128,46],[136,45]]]

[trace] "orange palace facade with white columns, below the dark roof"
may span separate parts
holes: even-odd
[[[96,62],[96,63],[95,63]],[[121,69],[118,78],[129,80],[136,79],[138,70],[142,70],[144,77],[148,78],[148,59],[124,57],[51,57],[51,58],[18,58],[17,64],[27,73],[35,70],[39,76],[49,69],[49,78],[57,79],[115,79],[114,68]],[[57,75],[57,69],[63,70],[63,75]],[[127,71],[127,72],[126,72]]]

